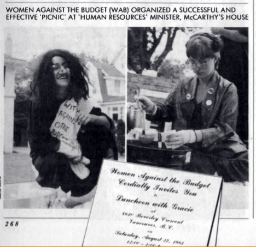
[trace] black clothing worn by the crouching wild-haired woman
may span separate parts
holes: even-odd
[[[87,166],[90,170],[89,177],[78,178],[69,166],[65,155],[54,152],[54,147],[59,142],[58,138],[51,136],[50,126],[63,100],[53,102],[51,109],[40,106],[39,100],[34,99],[30,107],[30,118],[28,122],[28,141],[30,143],[33,165],[39,172],[37,182],[43,187],[58,188],[64,192],[71,191],[72,196],[83,196],[88,194],[97,184],[103,158],[109,158],[111,149],[114,159],[118,159],[117,146],[111,132],[106,126],[98,126],[92,123],[82,126],[78,132],[77,140],[82,147],[83,155],[90,159]],[[93,108],[92,115],[105,116],[110,129],[112,120],[101,112],[100,108]]]

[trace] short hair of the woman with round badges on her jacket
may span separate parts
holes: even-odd
[[[217,58],[217,64],[222,48],[223,41],[211,33],[196,33],[190,37],[186,44],[188,58]]]

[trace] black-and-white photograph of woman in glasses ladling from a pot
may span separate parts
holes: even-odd
[[[127,162],[223,177],[220,218],[248,218],[248,28],[127,32]]]

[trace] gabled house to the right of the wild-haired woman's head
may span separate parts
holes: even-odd
[[[125,122],[125,76],[117,68],[108,63],[89,59],[86,63],[89,70],[90,95],[115,122]]]

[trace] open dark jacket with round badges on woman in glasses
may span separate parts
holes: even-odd
[[[165,103],[158,104],[156,114],[147,115],[147,119],[172,121],[172,129],[177,131],[189,129],[195,108],[196,85],[196,77],[179,83]],[[206,93],[201,110],[201,148],[207,152],[224,148],[233,154],[247,151],[247,147],[235,132],[238,115],[235,85],[215,71],[208,88],[211,91]]]

